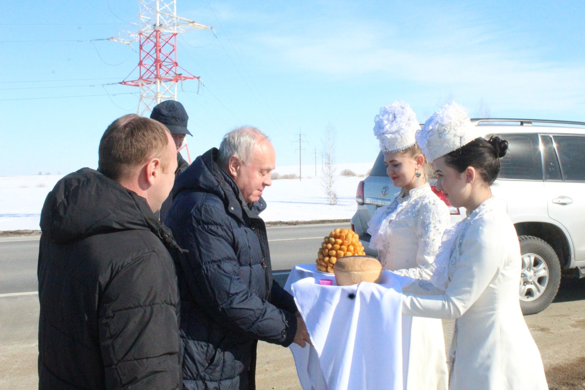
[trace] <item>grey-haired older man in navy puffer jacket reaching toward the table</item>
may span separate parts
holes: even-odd
[[[310,340],[294,299],[272,280],[259,216],[275,158],[264,134],[242,127],[177,179],[166,224],[188,249],[173,254],[184,389],[254,389],[258,340],[285,347]]]

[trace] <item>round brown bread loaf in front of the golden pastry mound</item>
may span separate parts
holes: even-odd
[[[338,286],[349,286],[360,282],[379,283],[382,265],[369,256],[344,256],[335,263],[335,281]]]

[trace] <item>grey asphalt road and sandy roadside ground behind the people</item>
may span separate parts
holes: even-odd
[[[275,274],[299,263],[312,263],[323,236],[335,225],[270,227]],[[342,226],[339,226],[342,227]],[[37,388],[36,291],[38,239],[0,239],[0,388]],[[563,279],[559,294],[546,310],[525,317],[545,365],[550,390],[585,389],[585,279]],[[526,375],[530,375],[526,367]],[[260,343],[257,388],[300,390],[290,351]]]

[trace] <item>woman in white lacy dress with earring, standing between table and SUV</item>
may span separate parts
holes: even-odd
[[[401,274],[428,279],[428,267],[449,226],[449,209],[426,180],[431,167],[415,143],[420,126],[408,104],[394,102],[382,107],[374,122],[386,172],[401,190],[370,220],[370,248],[378,250],[386,270],[408,268]],[[441,320],[403,316],[402,357],[405,390],[447,389]]]

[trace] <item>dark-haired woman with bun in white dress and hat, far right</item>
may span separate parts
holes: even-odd
[[[450,389],[548,389],[519,305],[518,237],[490,190],[507,141],[481,137],[467,110],[451,103],[426,121],[417,142],[437,188],[467,218],[445,232],[431,278],[404,289],[402,313],[456,319]]]

